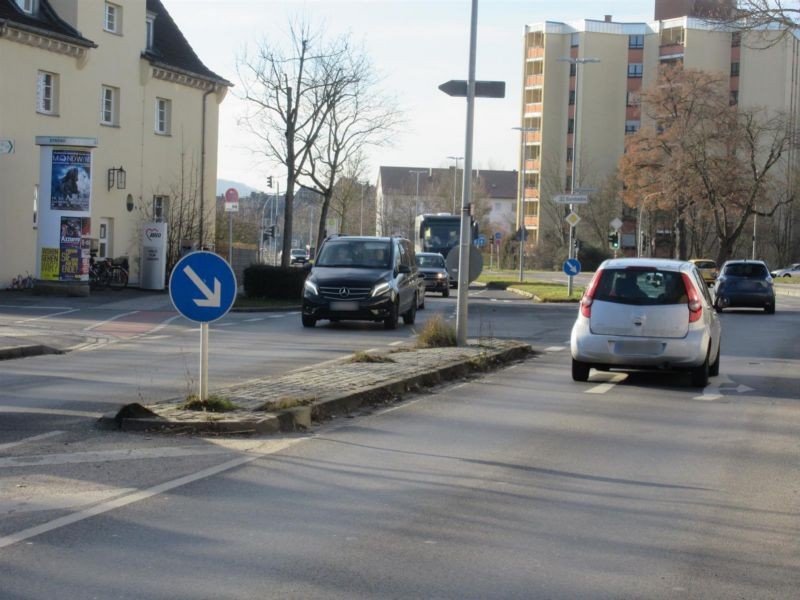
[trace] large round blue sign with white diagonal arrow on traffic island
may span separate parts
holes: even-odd
[[[184,317],[209,323],[225,316],[236,299],[236,276],[213,252],[192,252],[169,276],[169,297]]]

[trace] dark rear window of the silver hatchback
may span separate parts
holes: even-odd
[[[604,269],[594,299],[647,306],[684,304],[689,301],[679,272],[638,267]]]

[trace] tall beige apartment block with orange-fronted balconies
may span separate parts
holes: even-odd
[[[529,242],[537,244],[548,228],[564,226],[564,207],[552,202],[554,195],[599,188],[613,173],[625,136],[642,124],[637,93],[655,83],[661,64],[721,73],[732,104],[797,116],[797,37],[776,32],[770,44],[749,44],[748,36],[763,32],[741,33],[704,20],[718,6],[656,0],[657,20],[651,23],[606,16],[525,27],[521,125],[529,131],[520,151],[524,211],[517,224],[529,230]],[[636,245],[632,234],[622,240]]]

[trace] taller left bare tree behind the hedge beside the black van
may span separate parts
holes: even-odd
[[[238,61],[239,79],[249,109],[242,123],[263,144],[260,153],[286,167],[281,266],[288,266],[292,244],[295,186],[325,126],[328,114],[350,82],[347,36],[332,41],[308,21],[289,23],[288,50],[262,41]]]

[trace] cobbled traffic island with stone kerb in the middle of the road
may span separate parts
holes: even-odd
[[[489,371],[531,355],[530,345],[481,339],[464,347],[396,348],[326,361],[285,375],[251,379],[213,391],[235,405],[226,412],[181,408],[183,398],[147,406],[128,404],[100,419],[123,431],[263,434],[299,431],[365,406],[398,400],[471,373]]]

